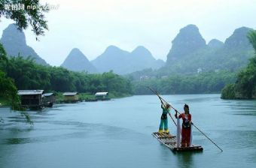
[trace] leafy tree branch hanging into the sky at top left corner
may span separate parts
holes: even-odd
[[[14,20],[20,30],[32,26],[38,37],[48,29],[44,13],[49,11],[48,5],[41,5],[39,0],[0,0],[0,19],[5,17]],[[37,38],[36,37],[36,38]]]

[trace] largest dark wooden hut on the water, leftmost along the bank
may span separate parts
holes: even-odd
[[[40,109],[43,104],[44,90],[19,90],[21,106],[29,109]]]

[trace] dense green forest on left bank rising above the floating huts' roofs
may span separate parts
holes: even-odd
[[[14,80],[17,89],[44,89],[54,92],[111,92],[114,96],[132,94],[129,80],[112,72],[87,74],[68,71],[65,68],[35,64],[31,58],[8,58],[0,44],[2,60],[0,71]],[[3,89],[3,87],[2,87]]]

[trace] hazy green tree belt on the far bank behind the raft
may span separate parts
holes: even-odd
[[[233,83],[235,74],[228,71],[208,72],[197,75],[172,75],[164,78],[133,81],[136,95],[149,95],[151,86],[161,94],[219,93],[227,83]]]

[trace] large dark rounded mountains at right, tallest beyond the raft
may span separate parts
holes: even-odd
[[[248,58],[254,54],[247,34],[251,28],[237,28],[222,43],[210,40],[206,44],[197,26],[188,25],[181,28],[167,55],[166,66],[160,71],[167,74],[194,74],[198,71],[237,71],[245,67]]]

